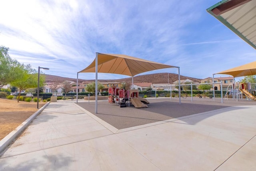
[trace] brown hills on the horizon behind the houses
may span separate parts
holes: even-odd
[[[65,80],[68,81],[74,81],[76,82],[76,78],[66,78],[66,77],[60,77],[60,76],[52,76],[48,74],[44,74],[46,76],[46,82],[64,82]],[[180,80],[192,80],[193,82],[201,82],[202,79],[199,78],[192,78],[192,77],[186,77],[180,75]],[[178,80],[178,74],[173,74],[169,73],[169,83],[172,84]],[[82,81],[95,81],[95,80],[82,80],[78,79],[78,82]],[[132,83],[132,77],[130,78],[122,78],[122,79],[117,79],[117,80],[98,80],[99,82],[128,82]],[[146,75],[141,75],[141,76],[135,76],[133,78],[134,83],[142,83],[142,82],[148,82],[148,83],[153,83],[153,84],[167,84],[168,83],[168,73],[157,73],[157,74],[146,74]]]

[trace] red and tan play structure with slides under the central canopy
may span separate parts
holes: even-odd
[[[127,101],[128,106],[130,106],[131,102],[136,108],[148,107],[146,104],[149,104],[147,99],[139,96],[138,89],[125,90],[119,87],[108,88],[108,103],[115,103],[120,107],[126,107]]]

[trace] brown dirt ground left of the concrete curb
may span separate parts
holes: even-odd
[[[39,102],[39,108],[45,104],[45,102]],[[0,140],[34,114],[38,110],[36,107],[36,102],[20,101],[18,103],[16,99],[0,98]]]

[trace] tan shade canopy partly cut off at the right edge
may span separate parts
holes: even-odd
[[[216,74],[228,74],[233,77],[256,75],[256,61],[226,71],[218,72]]]

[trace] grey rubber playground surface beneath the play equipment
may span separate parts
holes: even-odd
[[[98,101],[98,113],[95,114],[95,102],[79,102],[78,105],[106,121],[117,129],[124,129],[138,125],[145,125],[158,121],[204,113],[230,106],[255,105],[256,101],[236,101],[232,99],[215,100],[210,98],[191,97],[182,98],[179,104],[178,98],[147,98],[150,102],[146,108],[135,108],[131,103],[130,107],[119,107],[118,104],[111,104],[108,101]]]

